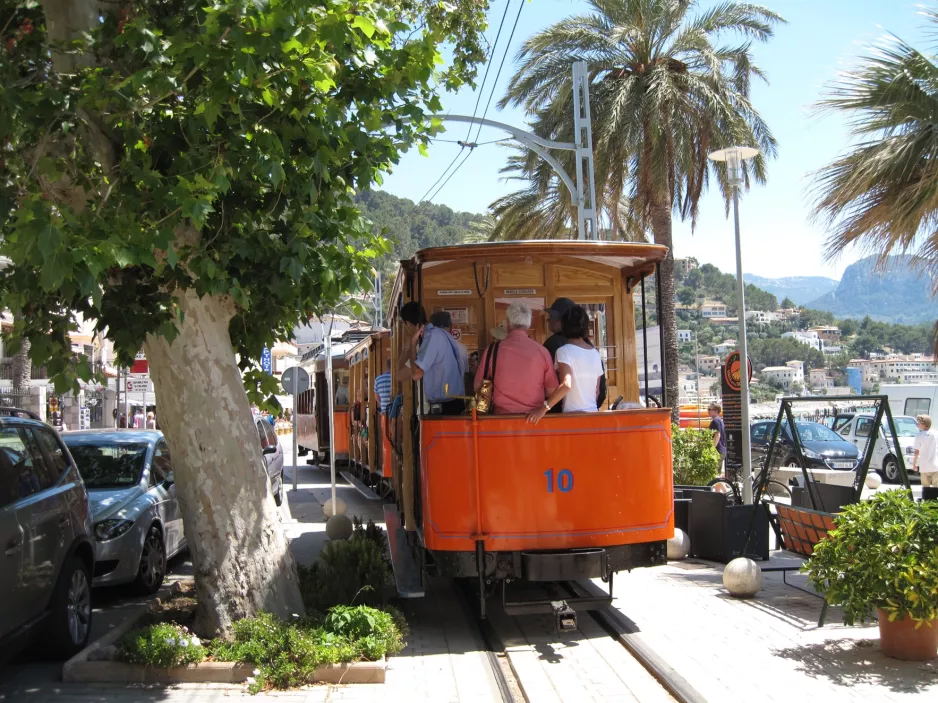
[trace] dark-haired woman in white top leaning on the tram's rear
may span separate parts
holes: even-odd
[[[603,362],[599,351],[589,339],[589,314],[574,305],[560,321],[567,343],[557,350],[557,378],[560,385],[544,406],[528,415],[528,422],[537,424],[547,411],[563,401],[565,413],[596,412],[599,400],[599,381],[603,375]]]

